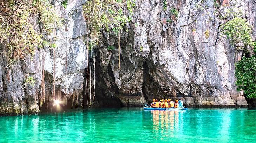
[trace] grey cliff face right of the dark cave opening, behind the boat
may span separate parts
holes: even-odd
[[[185,105],[200,107],[245,105],[234,73],[242,51],[222,37],[218,28],[226,21],[219,17],[232,15],[230,9],[240,9],[255,25],[253,3],[167,0],[164,10],[158,0],[136,1],[133,23],[120,38],[120,69],[117,49],[106,50],[107,45],[117,48],[117,37],[104,33],[97,83],[105,86],[98,87],[104,92],[97,96],[117,97],[125,106],[140,106],[152,98],[182,98]]]

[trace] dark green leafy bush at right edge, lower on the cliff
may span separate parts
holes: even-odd
[[[256,98],[256,55],[243,57],[235,66],[237,90],[243,89],[248,98]]]

